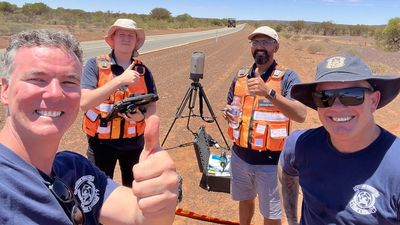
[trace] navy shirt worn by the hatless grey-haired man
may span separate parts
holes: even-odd
[[[0,171],[0,224],[72,224],[40,172],[1,144]],[[74,192],[85,225],[98,224],[100,209],[118,184],[69,151],[57,153],[53,172]]]

